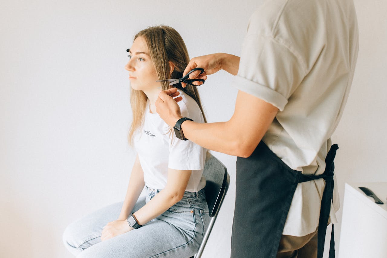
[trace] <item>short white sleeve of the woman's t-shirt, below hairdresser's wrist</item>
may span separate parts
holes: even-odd
[[[189,117],[194,121],[198,120],[197,117],[190,116],[184,101],[180,101],[178,104],[183,117]],[[190,140],[180,140],[173,134],[169,150],[168,168],[178,170],[204,169],[205,148],[202,146]]]

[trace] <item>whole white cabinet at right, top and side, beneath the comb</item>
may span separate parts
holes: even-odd
[[[367,187],[384,202],[377,204],[358,187]],[[339,258],[387,257],[387,182],[345,184]]]

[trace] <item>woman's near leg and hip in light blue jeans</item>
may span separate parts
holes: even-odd
[[[152,198],[149,194],[149,198]],[[149,201],[149,200],[148,200]],[[178,203],[139,229],[94,244],[78,258],[185,258],[195,255],[209,220],[205,193],[185,193]]]

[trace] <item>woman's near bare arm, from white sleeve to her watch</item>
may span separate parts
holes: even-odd
[[[192,170],[168,169],[167,184],[156,196],[133,215],[144,225],[182,200]]]

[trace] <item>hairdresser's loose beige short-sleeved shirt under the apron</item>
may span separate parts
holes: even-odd
[[[234,84],[279,109],[262,140],[291,169],[324,172],[357,53],[353,0],[268,0],[250,18]],[[324,187],[323,179],[298,184],[283,234],[316,230]],[[335,223],[336,183],[332,207]]]

